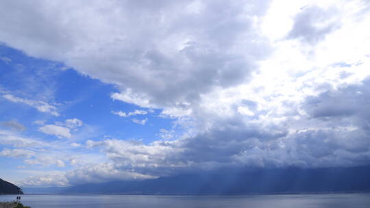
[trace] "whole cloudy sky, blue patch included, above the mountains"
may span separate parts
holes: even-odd
[[[370,164],[370,1],[1,1],[0,177]]]

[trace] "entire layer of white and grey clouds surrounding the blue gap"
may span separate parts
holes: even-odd
[[[1,4],[2,42],[113,84],[113,100],[160,109],[160,116],[175,120],[150,144],[125,138],[71,143],[100,151],[107,161],[24,184],[147,179],[227,166],[370,164],[365,1]],[[3,98],[59,115],[47,103]],[[80,126],[71,119],[39,130],[71,138]],[[0,142],[12,141],[4,138]],[[73,159],[47,158],[27,163],[64,166]]]

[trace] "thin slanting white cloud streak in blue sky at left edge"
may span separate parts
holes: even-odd
[[[14,103],[23,103],[25,105],[29,105],[31,107],[36,108],[39,112],[49,113],[53,116],[59,116],[57,108],[44,101],[33,101],[29,99],[22,99],[17,96],[13,96],[12,94],[4,94],[3,98]]]

